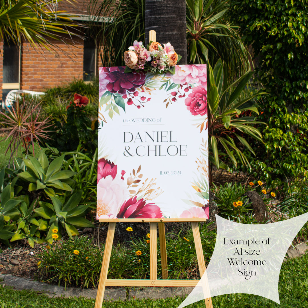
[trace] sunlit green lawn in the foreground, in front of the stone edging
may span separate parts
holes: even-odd
[[[225,294],[212,298],[214,308],[308,308],[308,254],[282,265],[279,279],[280,304],[252,294]],[[177,308],[185,298],[136,299],[103,302],[102,308]],[[95,300],[85,298],[48,298],[38,292],[13,290],[0,285],[0,308],[93,308]],[[188,308],[204,308],[204,301]]]

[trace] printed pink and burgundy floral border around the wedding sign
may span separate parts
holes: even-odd
[[[174,74],[164,72],[161,75],[132,71],[125,73],[125,67],[99,68],[99,120],[107,123],[104,113],[112,120],[123,109],[135,106],[138,109],[151,103],[151,91],[164,90],[167,98],[166,108],[183,98],[187,110],[196,118],[200,132],[207,129],[207,83],[205,65],[180,65]],[[120,108],[119,108],[120,107]],[[122,112],[123,112],[122,111]],[[205,126],[205,127],[204,127]],[[197,171],[201,177],[193,180],[195,195],[200,202],[191,198],[183,200],[192,206],[184,210],[179,218],[209,218],[208,149],[202,139],[202,156],[196,158]],[[124,181],[124,170],[117,172],[117,165],[105,158],[99,159],[97,188],[97,218],[161,218],[163,213],[155,203],[149,202],[162,192],[155,189],[156,179],[141,182],[141,166],[132,170]],[[141,184],[140,184],[141,182]],[[202,202],[202,203],[201,203]],[[166,217],[165,218],[170,218]]]

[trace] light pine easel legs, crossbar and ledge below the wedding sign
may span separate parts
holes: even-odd
[[[104,221],[104,220],[99,220]],[[110,221],[110,220],[109,220]],[[101,308],[103,304],[103,297],[105,292],[105,286],[190,286],[195,287],[199,280],[195,279],[168,279],[168,268],[167,268],[167,250],[166,250],[166,237],[165,237],[165,226],[164,221],[191,221],[193,229],[193,238],[196,247],[198,266],[200,276],[205,272],[205,262],[199,232],[198,221],[205,221],[199,218],[195,219],[142,219],[142,222],[150,222],[150,279],[107,279],[109,261],[111,256],[112,242],[115,233],[116,221],[125,222],[140,222],[140,219],[111,219],[108,225],[107,239],[105,244],[104,256],[102,269],[99,277],[99,285],[96,295],[95,308]],[[157,279],[157,229],[156,222],[158,222],[159,230],[159,241],[160,241],[160,257],[161,257],[161,268],[162,278]],[[212,299],[205,299],[205,307],[213,308]]]

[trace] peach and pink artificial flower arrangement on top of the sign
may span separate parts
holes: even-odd
[[[158,42],[152,42],[145,48],[142,42],[134,41],[134,45],[124,52],[126,64],[125,72],[150,71],[152,73],[175,73],[175,66],[182,58],[178,55],[170,43],[164,44],[164,48]]]

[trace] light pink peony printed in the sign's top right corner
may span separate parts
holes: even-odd
[[[175,67],[175,74],[170,75],[171,82],[176,84],[197,83],[206,88],[206,65],[177,65]]]

